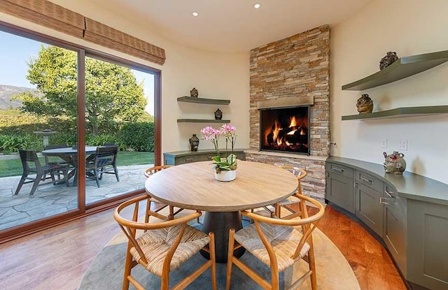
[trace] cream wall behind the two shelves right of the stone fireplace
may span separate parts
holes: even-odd
[[[342,85],[379,71],[388,51],[399,57],[448,50],[448,1],[374,0],[331,31],[331,154],[382,164],[382,152],[402,151],[407,171],[448,183],[448,114],[381,120],[341,121],[356,115],[356,100],[369,94],[374,111],[406,106],[448,105],[448,63],[363,92]],[[388,147],[381,148],[387,139]]]

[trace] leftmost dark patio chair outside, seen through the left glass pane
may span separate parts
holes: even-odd
[[[41,181],[45,181],[48,178],[51,178],[52,184],[56,185],[55,180],[55,174],[63,175],[63,181],[66,184],[67,187],[69,187],[69,182],[67,175],[69,173],[69,166],[62,166],[58,164],[51,164],[51,165],[45,165],[41,166],[41,162],[39,161],[36,151],[34,150],[19,150],[20,154],[20,160],[22,161],[22,167],[23,167],[23,173],[22,177],[20,178],[19,185],[17,189],[15,189],[15,195],[17,195],[22,188],[23,184],[34,182],[33,187],[31,187],[31,192],[29,193],[29,196],[33,196],[34,191],[36,191],[36,188],[38,185],[46,184],[42,183],[39,184]],[[36,175],[36,177],[29,177],[29,175]],[[50,177],[46,177],[47,174],[50,174]],[[30,181],[26,181],[30,180]]]

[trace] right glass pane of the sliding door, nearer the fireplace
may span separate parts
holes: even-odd
[[[87,205],[143,188],[154,164],[154,75],[85,58]],[[154,108],[152,106],[152,108]]]

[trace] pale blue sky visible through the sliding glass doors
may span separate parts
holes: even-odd
[[[31,57],[36,56],[40,41],[0,31],[0,85],[36,88],[26,78]],[[138,82],[144,81],[144,95],[148,100],[146,111],[154,115],[154,76],[132,70]]]

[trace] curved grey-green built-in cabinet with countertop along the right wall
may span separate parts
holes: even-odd
[[[325,200],[385,245],[412,289],[448,289],[448,184],[328,157]]]

